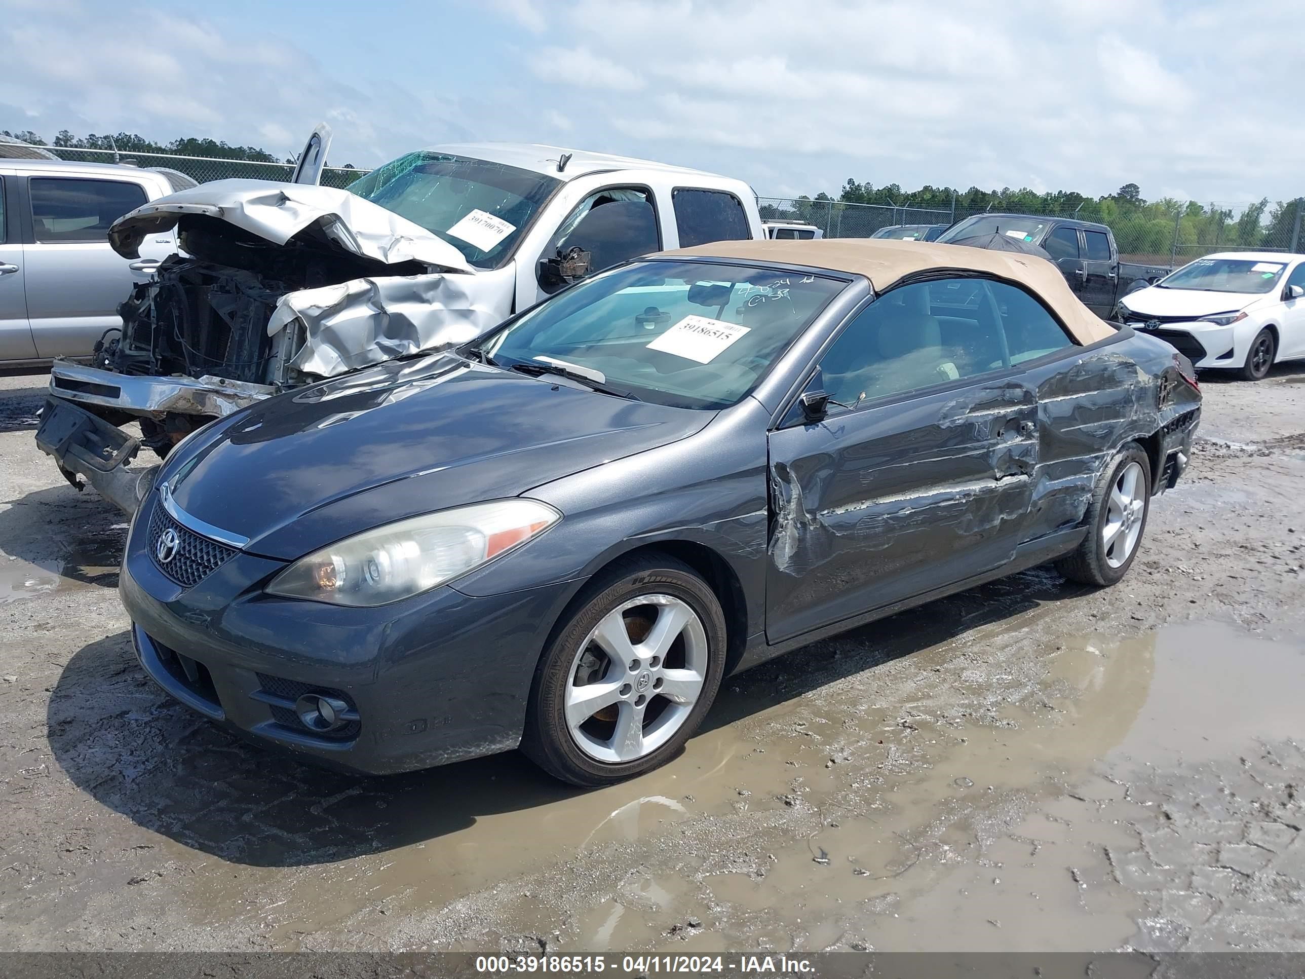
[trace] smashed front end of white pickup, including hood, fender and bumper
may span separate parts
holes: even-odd
[[[76,487],[134,510],[142,445],[161,458],[191,432],[281,392],[474,339],[501,298],[462,253],[348,191],[222,180],[125,214],[110,244],[138,257],[172,227],[181,251],[119,305],[91,365],[56,360],[37,432]],[[119,426],[138,422],[141,437]]]

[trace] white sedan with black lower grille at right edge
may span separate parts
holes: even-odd
[[[1169,342],[1199,368],[1258,381],[1274,364],[1305,358],[1305,255],[1197,258],[1125,296],[1118,319]]]

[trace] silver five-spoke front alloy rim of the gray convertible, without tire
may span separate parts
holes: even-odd
[[[566,727],[595,761],[636,761],[693,713],[707,675],[707,633],[673,595],[622,602],[585,638],[566,685]]]

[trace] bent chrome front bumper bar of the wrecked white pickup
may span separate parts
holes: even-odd
[[[50,393],[84,405],[117,409],[133,415],[183,415],[224,418],[275,394],[264,384],[232,381],[205,375],[193,377],[140,377],[82,367],[70,360],[55,360],[50,372]]]

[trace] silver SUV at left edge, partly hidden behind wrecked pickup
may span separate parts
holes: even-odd
[[[112,163],[0,159],[0,367],[90,356],[120,329],[117,304],[176,251],[176,232],[149,235],[140,258],[108,247],[108,227],[194,181]]]

